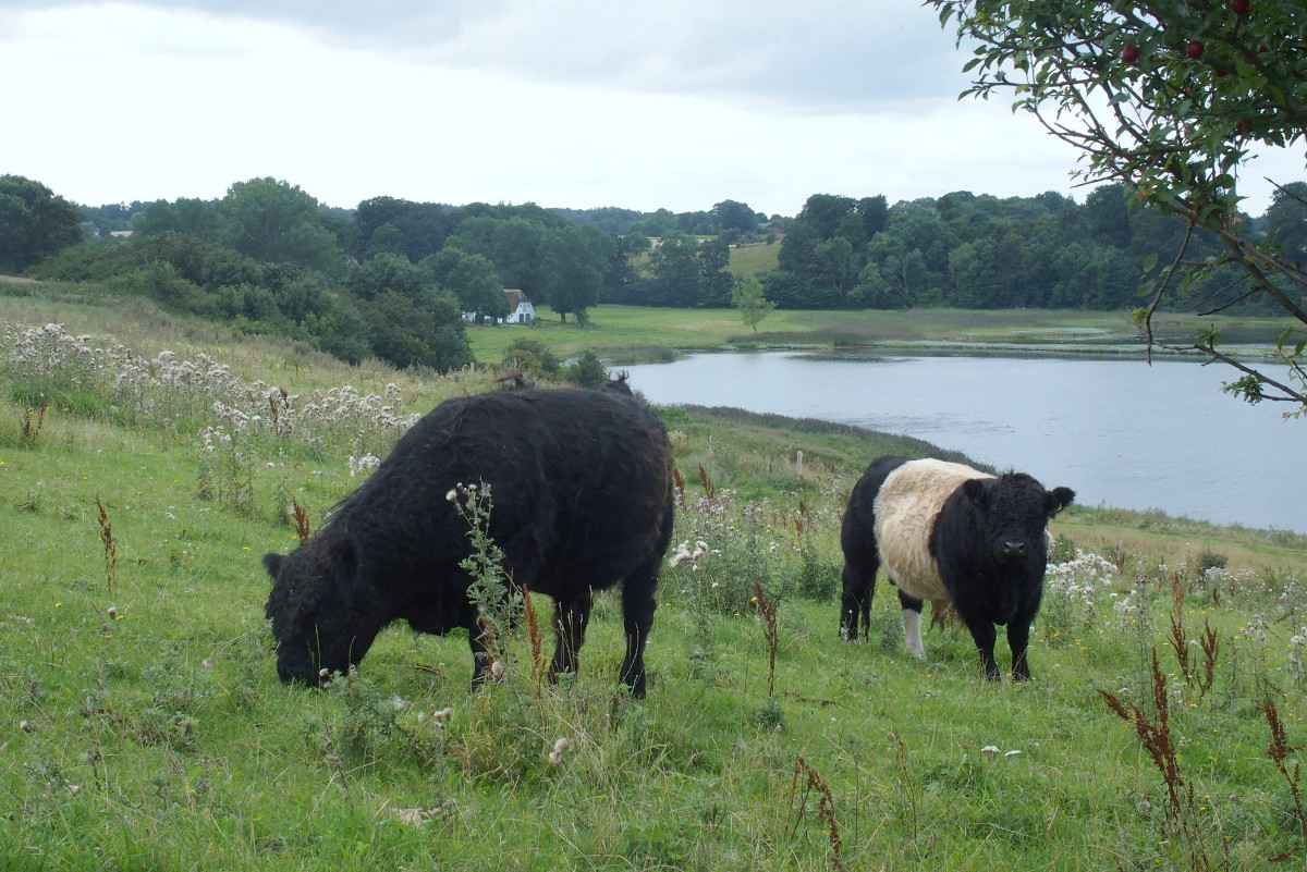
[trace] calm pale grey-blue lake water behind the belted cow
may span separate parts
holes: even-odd
[[[1307,533],[1307,420],[1221,393],[1238,375],[1221,364],[727,352],[623,368],[655,403],[903,433],[1082,505]]]

